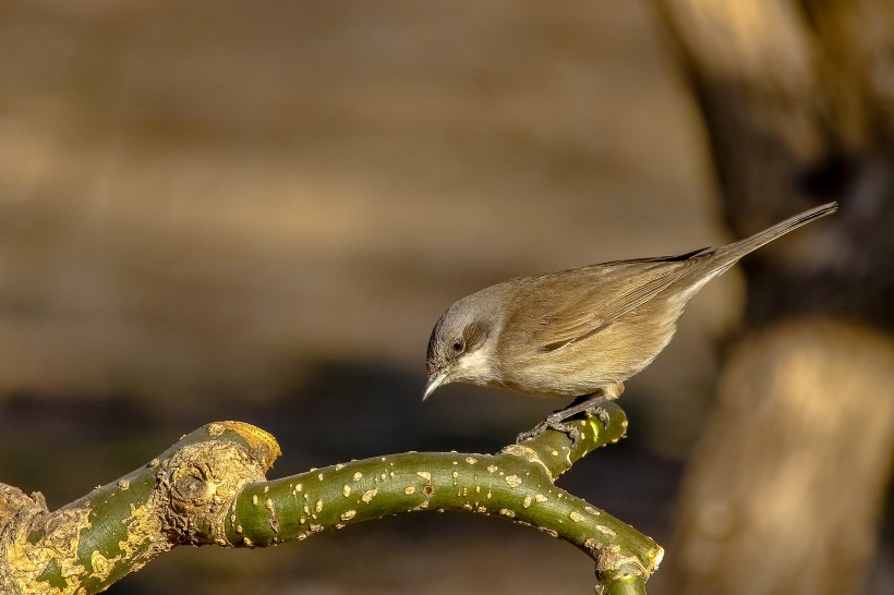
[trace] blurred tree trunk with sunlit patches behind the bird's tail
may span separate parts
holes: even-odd
[[[693,452],[674,593],[858,593],[894,451],[894,2],[655,0],[746,236],[747,328]]]

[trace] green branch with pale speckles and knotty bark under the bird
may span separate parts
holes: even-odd
[[[495,515],[565,539],[596,562],[603,593],[644,593],[662,549],[556,487],[627,425],[578,422],[582,438],[547,432],[498,454],[409,452],[265,481],[279,456],[269,434],[208,424],[112,484],[56,512],[0,486],[0,592],[97,593],[176,545],[264,547],[420,510]],[[8,512],[8,510],[9,512]]]

